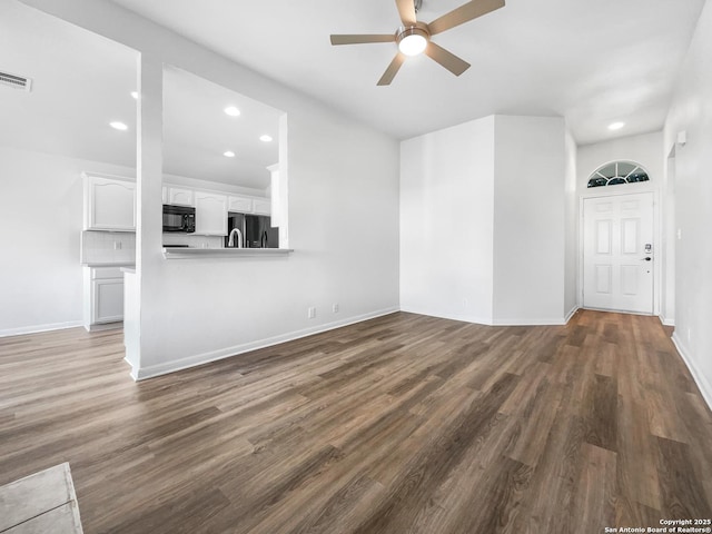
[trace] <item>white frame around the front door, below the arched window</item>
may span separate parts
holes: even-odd
[[[643,186],[643,187],[637,187]],[[606,198],[606,197],[623,197],[626,195],[640,195],[643,192],[650,192],[653,196],[653,253],[655,263],[653,266],[653,316],[660,317],[660,294],[662,290],[662,277],[661,266],[662,257],[665,250],[662,249],[662,221],[660,217],[660,194],[657,189],[653,189],[650,186],[645,187],[645,182],[641,184],[621,184],[621,186],[610,186],[612,189],[617,187],[625,188],[625,191],[602,191],[605,187],[592,188],[593,190],[586,190],[578,196],[578,276],[576,280],[576,304],[578,308],[583,308],[583,253],[584,253],[584,218],[583,218],[583,202],[590,198]],[[624,314],[625,312],[615,312]]]

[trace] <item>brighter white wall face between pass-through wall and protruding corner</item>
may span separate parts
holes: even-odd
[[[400,144],[400,307],[492,323],[494,117]]]

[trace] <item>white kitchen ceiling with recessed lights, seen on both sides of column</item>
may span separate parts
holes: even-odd
[[[135,168],[137,59],[122,44],[1,0],[0,71],[30,78],[32,90],[0,86],[0,146]],[[280,111],[174,68],[166,70],[164,92],[165,172],[269,186]],[[225,115],[230,105],[239,117]],[[109,127],[115,120],[128,130]],[[261,142],[263,134],[274,141]],[[226,158],[226,150],[236,157]]]

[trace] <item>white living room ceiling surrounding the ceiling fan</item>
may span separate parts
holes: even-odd
[[[434,37],[472,63],[459,78],[418,57],[376,87],[395,43],[332,47],[329,34],[394,32],[394,0],[112,1],[398,138],[518,113],[563,116],[578,144],[662,128],[704,3],[507,0]],[[428,22],[464,2],[423,3]]]

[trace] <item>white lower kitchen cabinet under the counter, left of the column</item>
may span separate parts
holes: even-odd
[[[120,267],[85,267],[83,315],[87,330],[121,326],[123,273]]]

